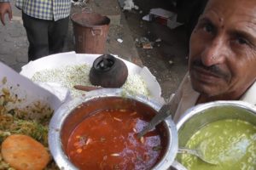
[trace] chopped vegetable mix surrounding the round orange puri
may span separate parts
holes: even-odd
[[[3,85],[7,83],[6,77],[2,80]],[[17,84],[17,86],[19,86]],[[0,144],[11,134],[26,134],[38,140],[44,147],[48,147],[48,125],[53,110],[49,105],[40,101],[27,105],[24,108],[15,108],[15,104],[24,101],[13,94],[12,88],[1,87],[0,89]],[[47,149],[48,150],[48,149]],[[48,150],[49,151],[49,150]],[[0,154],[0,169],[15,170],[3,161]],[[51,158],[44,170],[59,169]]]

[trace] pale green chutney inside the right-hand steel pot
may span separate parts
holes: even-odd
[[[254,169],[256,168],[256,126],[237,119],[212,122],[197,131],[186,148],[201,150],[207,160],[183,154],[181,163],[191,170]]]

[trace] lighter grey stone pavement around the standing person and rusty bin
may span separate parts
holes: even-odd
[[[19,72],[21,67],[27,63],[28,42],[21,19],[21,11],[15,8],[15,1],[12,1],[11,5],[13,20],[9,21],[6,15],[6,26],[3,26],[2,23],[0,24],[0,61]],[[129,60],[137,65],[142,65],[134,40],[131,37],[131,31],[127,26],[124,15],[119,9],[117,0],[91,0],[88,5],[93,12],[108,15],[111,19],[105,53],[117,54],[123,59]],[[81,7],[73,5],[71,13],[81,12],[81,9]],[[71,21],[69,22],[68,29],[64,51],[73,51],[73,25]],[[118,38],[121,38],[123,42],[118,42]]]

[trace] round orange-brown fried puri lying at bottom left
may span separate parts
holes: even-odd
[[[29,136],[10,135],[2,144],[3,160],[17,170],[42,170],[49,162],[49,153]]]

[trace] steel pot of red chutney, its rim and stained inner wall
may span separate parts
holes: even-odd
[[[86,105],[86,113],[73,112],[79,105]],[[68,137],[73,129],[88,116],[88,114],[104,109],[125,109],[139,107],[143,111],[156,114],[160,110],[161,104],[145,96],[133,95],[119,88],[102,88],[86,93],[84,97],[73,99],[55,111],[49,122],[49,150],[61,169],[78,169],[68,159],[65,153]],[[121,108],[120,108],[121,107]],[[88,114],[87,114],[88,113]],[[160,123],[160,128],[164,129],[165,150],[159,162],[152,168],[155,170],[165,170],[171,167],[177,154],[177,128],[171,118],[167,118]]]

